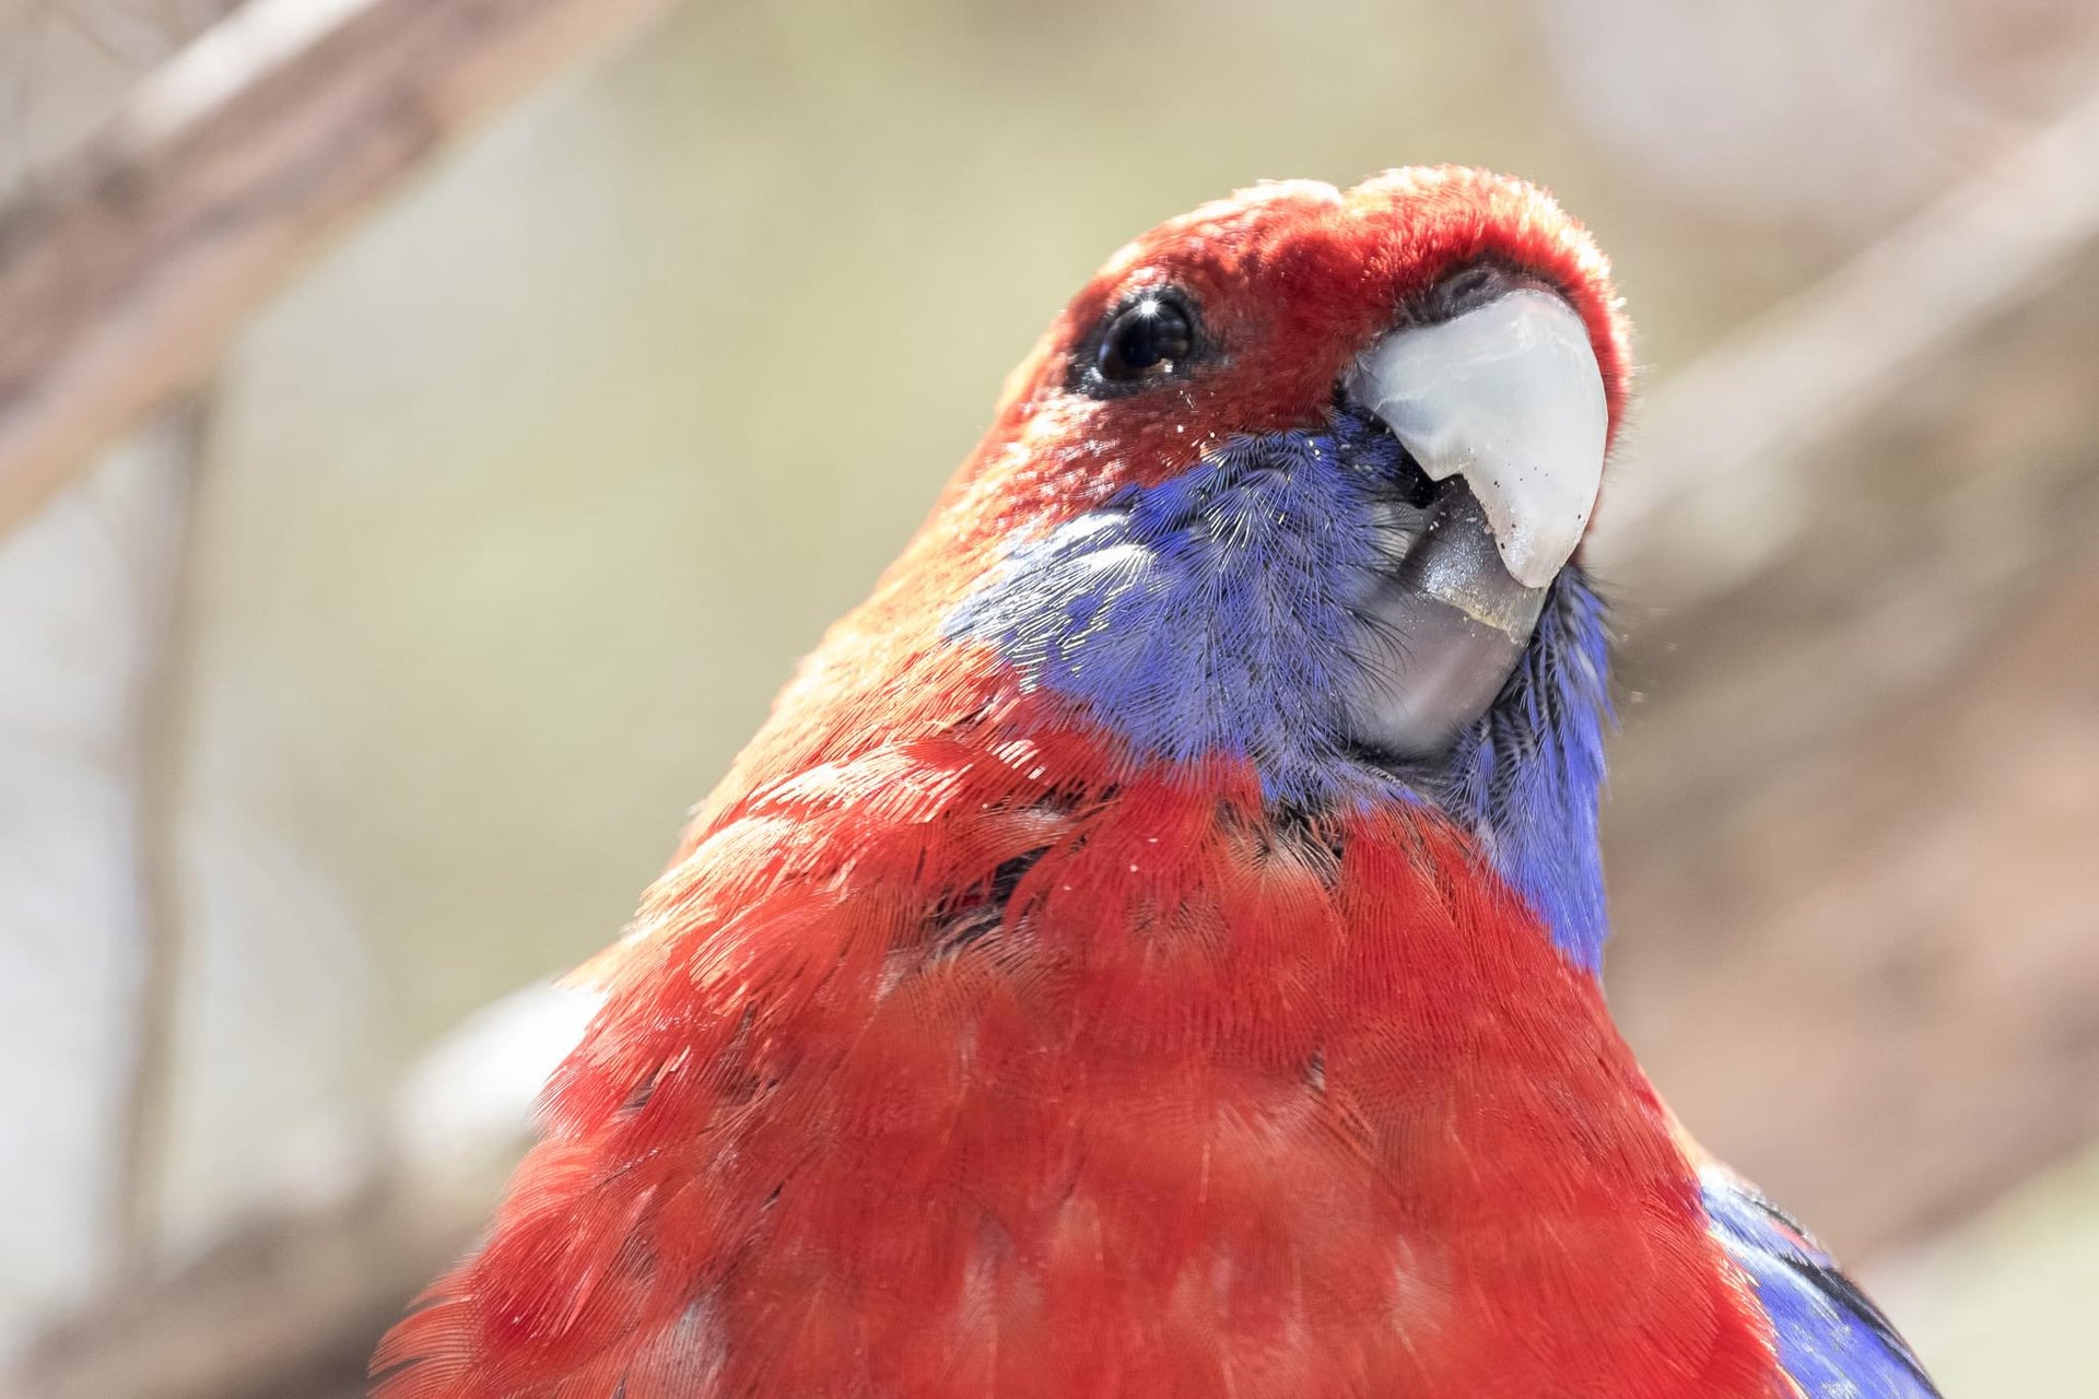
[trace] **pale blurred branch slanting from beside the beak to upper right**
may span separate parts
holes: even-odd
[[[1635,413],[1591,558],[1673,608],[1767,568],[1811,457],[2099,237],[2099,90],[1837,275],[1671,375]]]

